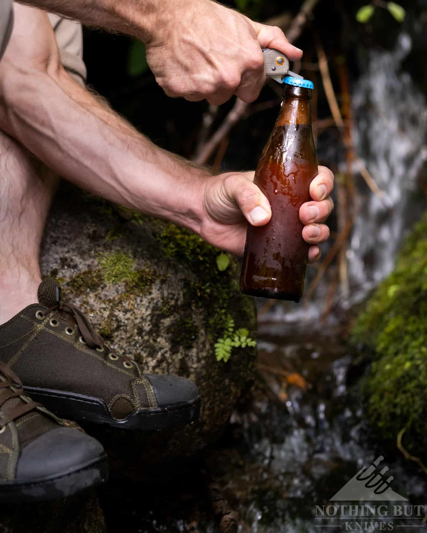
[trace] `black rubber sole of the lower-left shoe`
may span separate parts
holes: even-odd
[[[0,481],[0,503],[45,502],[98,487],[108,479],[107,455],[49,478]]]

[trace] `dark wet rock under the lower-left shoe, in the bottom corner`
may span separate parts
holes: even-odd
[[[58,502],[0,506],[0,533],[106,533],[98,498],[91,493]]]

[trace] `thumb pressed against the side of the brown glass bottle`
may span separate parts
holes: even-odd
[[[246,220],[254,226],[263,226],[271,219],[270,202],[252,182],[252,172],[231,174],[224,180],[228,201],[236,203]]]

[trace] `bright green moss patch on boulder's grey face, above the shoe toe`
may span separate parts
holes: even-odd
[[[124,282],[126,292],[130,294],[145,294],[155,280],[149,263],[144,268],[136,269],[136,260],[121,250],[99,254],[98,262],[104,282],[113,285]]]

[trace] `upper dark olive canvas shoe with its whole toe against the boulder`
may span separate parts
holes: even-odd
[[[194,422],[197,387],[183,377],[143,375],[94,331],[76,305],[61,302],[52,279],[29,305],[0,326],[0,360],[31,397],[61,418],[123,429],[163,429]]]

